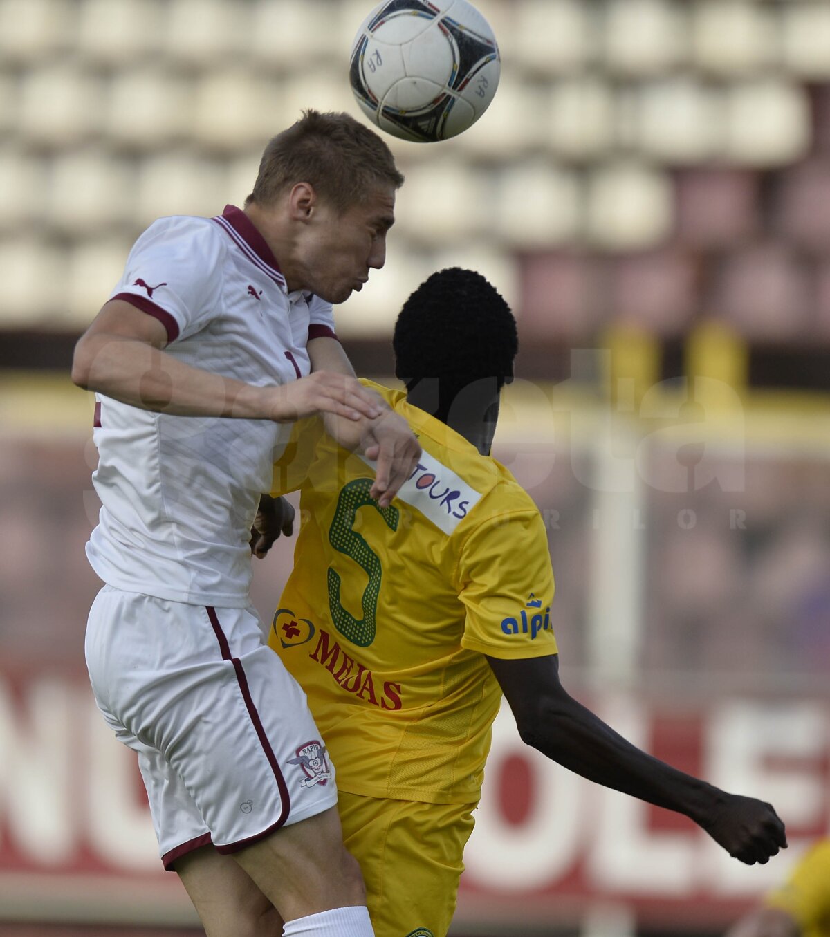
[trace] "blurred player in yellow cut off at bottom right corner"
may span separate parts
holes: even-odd
[[[727,937],[830,937],[830,840],[816,842]]]

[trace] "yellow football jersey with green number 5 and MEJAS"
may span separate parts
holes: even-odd
[[[501,689],[484,655],[556,653],[547,537],[511,473],[406,394],[422,458],[388,508],[318,420],[294,427],[274,495],[301,488],[294,570],[270,644],[308,695],[351,794],[470,803]]]

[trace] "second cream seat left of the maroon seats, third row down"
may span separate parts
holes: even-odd
[[[493,231],[511,249],[570,244],[579,235],[581,181],[548,159],[537,157],[502,170],[494,201]]]

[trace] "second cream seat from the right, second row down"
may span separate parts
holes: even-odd
[[[722,99],[689,76],[647,82],[634,93],[632,118],[630,142],[662,163],[689,166],[723,151]]]

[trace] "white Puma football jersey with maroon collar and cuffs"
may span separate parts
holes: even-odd
[[[307,375],[307,340],[334,335],[332,306],[286,290],[265,240],[232,205],[215,218],[156,221],[110,298],[160,320],[166,353],[256,386]],[[86,553],[97,575],[174,602],[245,607],[250,528],[290,426],[96,401],[102,507]]]

